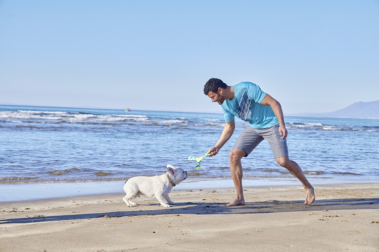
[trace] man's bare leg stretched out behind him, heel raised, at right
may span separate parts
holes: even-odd
[[[305,201],[304,204],[310,205],[312,202],[315,200],[314,196],[314,188],[313,186],[309,183],[308,179],[305,177],[302,169],[300,166],[295,162],[289,159],[289,157],[280,157],[276,158],[276,162],[291,172],[292,175],[297,177],[300,182],[303,184],[303,187],[305,189]]]

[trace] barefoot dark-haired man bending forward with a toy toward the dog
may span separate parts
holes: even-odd
[[[229,152],[230,173],[237,196],[227,206],[245,205],[241,159],[247,157],[263,139],[270,143],[276,162],[302,182],[305,189],[304,204],[310,205],[315,199],[314,188],[300,166],[288,157],[287,129],[280,103],[251,82],[228,86],[220,79],[212,78],[205,84],[204,94],[212,102],[221,105],[226,121],[220,139],[209,149],[208,154],[213,152],[212,156],[216,155],[230,139],[235,128],[234,116],[248,122]]]

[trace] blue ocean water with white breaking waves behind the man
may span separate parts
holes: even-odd
[[[311,183],[379,181],[379,120],[285,120],[290,159]],[[236,118],[232,138],[218,155],[204,158],[199,170],[187,160],[204,155],[223,126],[220,113],[0,105],[0,185],[123,184],[132,176],[162,174],[172,164],[187,170],[187,187],[225,181],[232,186],[228,152],[246,122]],[[300,184],[277,165],[266,141],[242,164],[244,184]]]

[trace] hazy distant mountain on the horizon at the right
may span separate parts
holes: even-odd
[[[356,102],[346,108],[328,113],[297,113],[292,116],[379,119],[379,100]]]

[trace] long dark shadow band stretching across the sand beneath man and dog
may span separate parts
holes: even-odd
[[[157,204],[146,204],[140,206],[155,206]],[[354,209],[378,209],[379,199],[335,199],[317,200],[311,206],[304,205],[301,201],[266,201],[247,203],[244,206],[227,207],[224,203],[178,203],[166,209],[140,210],[138,206],[127,208],[127,211],[107,213],[87,213],[57,216],[38,216],[27,218],[14,218],[0,220],[5,223],[37,223],[62,220],[80,220],[93,218],[114,218],[125,216],[147,216],[168,214],[259,214],[279,213],[294,211],[331,211],[331,210],[354,210]]]

